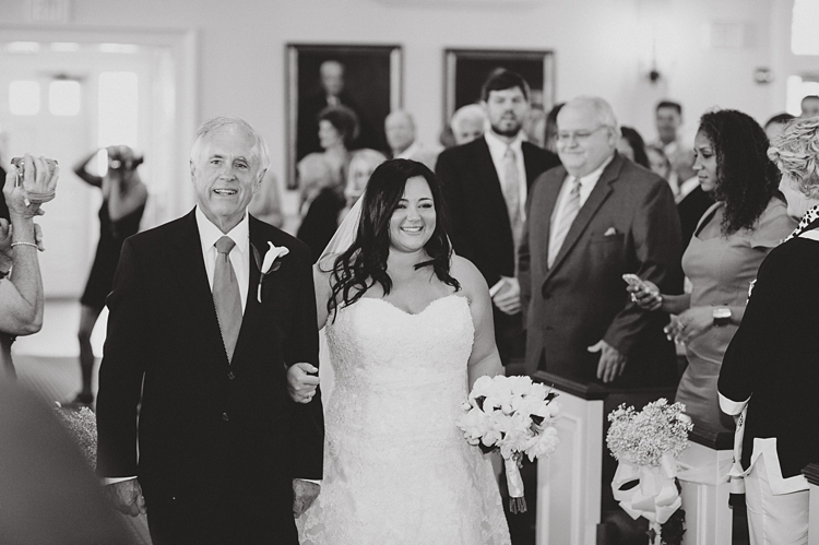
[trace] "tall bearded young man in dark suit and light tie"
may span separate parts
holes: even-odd
[[[515,254],[523,233],[531,183],[558,166],[557,156],[523,140],[529,85],[518,73],[498,69],[484,83],[482,105],[489,130],[438,157],[451,214],[452,246],[483,273],[494,304],[495,336],[503,365],[524,353]]]

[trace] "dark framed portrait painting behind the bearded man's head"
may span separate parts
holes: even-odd
[[[551,51],[447,49],[444,66],[444,127],[452,114],[480,100],[480,87],[498,68],[520,73],[532,91],[533,107],[549,110],[555,102],[555,57]]]

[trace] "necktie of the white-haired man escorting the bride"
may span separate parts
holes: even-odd
[[[230,264],[230,250],[236,242],[224,236],[216,240],[216,269],[213,275],[213,304],[216,307],[216,318],[225,343],[227,359],[234,357],[236,341],[241,329],[241,295],[239,283],[236,281],[234,265]]]

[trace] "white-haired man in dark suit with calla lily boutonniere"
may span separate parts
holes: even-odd
[[[97,472],[116,508],[147,511],[156,545],[297,545],[294,513],[319,491],[304,479],[322,477],[320,394],[297,404],[286,381],[287,366],[318,366],[309,250],[247,213],[269,163],[244,120],[206,122],[191,151],[195,209],[122,248]]]

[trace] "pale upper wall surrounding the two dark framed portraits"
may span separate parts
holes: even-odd
[[[624,125],[637,127],[648,140],[654,138],[653,106],[666,96],[684,104],[691,134],[699,115],[714,105],[745,110],[760,121],[784,109],[781,82],[759,85],[752,73],[779,58],[771,51],[776,31],[771,21],[788,16],[792,0],[70,3],[68,26],[73,28],[197,29],[200,120],[226,112],[250,120],[269,139],[280,179],[285,173],[285,45],[290,42],[402,45],[404,104],[427,142],[436,141],[440,130],[447,47],[551,49],[558,100],[602,95]],[[2,24],[33,27],[28,5],[28,0],[0,0]],[[737,47],[713,47],[713,23],[727,23],[722,28],[728,33],[739,28]],[[646,76],[653,35],[664,75],[657,84]]]

